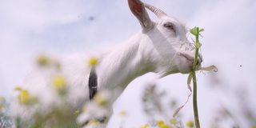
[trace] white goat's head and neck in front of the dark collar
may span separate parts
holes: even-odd
[[[194,61],[194,46],[186,38],[186,27],[154,6],[139,0],[128,0],[128,3],[142,31],[100,57],[96,68],[99,88],[124,90],[134,78],[149,72],[159,74],[160,78],[189,73]],[[150,20],[145,6],[158,16],[159,22]],[[200,56],[198,64],[201,62]]]

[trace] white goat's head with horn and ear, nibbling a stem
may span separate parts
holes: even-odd
[[[194,45],[186,38],[187,29],[175,18],[140,0],[128,0],[130,10],[142,26],[140,51],[147,62],[153,64],[154,72],[161,76],[174,73],[189,73],[194,61]],[[158,17],[158,22],[150,20],[146,8]],[[198,65],[202,62],[199,55]]]

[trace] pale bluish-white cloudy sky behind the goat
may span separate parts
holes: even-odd
[[[203,66],[218,66],[217,74],[198,73],[198,106],[202,126],[209,114],[225,104],[236,111],[236,96],[230,90],[246,89],[251,106],[256,106],[256,1],[254,0],[144,0],[178,18],[188,28],[203,27]],[[150,13],[154,20],[154,14]],[[104,46],[115,46],[140,30],[126,0],[0,0],[0,95],[14,97],[14,86],[31,71],[37,54],[65,57]],[[212,78],[216,86],[210,87]],[[171,74],[160,80],[154,74],[137,78],[114,105],[110,126],[116,126],[118,111],[127,110],[126,124],[142,126],[141,94],[154,81],[168,98],[186,101],[187,74]],[[153,80],[150,80],[153,79]],[[192,98],[182,112],[193,118]],[[182,102],[180,102],[182,104]],[[128,126],[128,125],[127,125]]]

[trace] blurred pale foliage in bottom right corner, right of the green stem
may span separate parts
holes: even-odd
[[[219,86],[220,89],[223,89],[223,86]],[[227,93],[223,91],[223,93]],[[211,128],[219,128],[226,126],[226,123],[229,123],[229,126],[232,128],[242,128],[250,127],[254,128],[256,126],[256,113],[255,107],[252,107],[251,101],[249,101],[249,93],[246,88],[233,88],[230,90],[230,93],[234,95],[236,103],[238,104],[238,110],[229,106],[220,106],[215,115],[212,115],[212,124]]]

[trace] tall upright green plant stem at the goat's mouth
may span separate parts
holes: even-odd
[[[193,76],[193,109],[194,109],[194,123],[196,128],[200,128],[199,123],[199,116],[198,116],[198,95],[197,95],[197,78],[195,75],[195,71],[197,70],[197,61],[198,61],[198,50],[200,48],[200,42],[198,40],[199,34],[195,36],[195,56],[194,56],[194,64],[193,64],[193,70],[192,70],[192,76]]]

